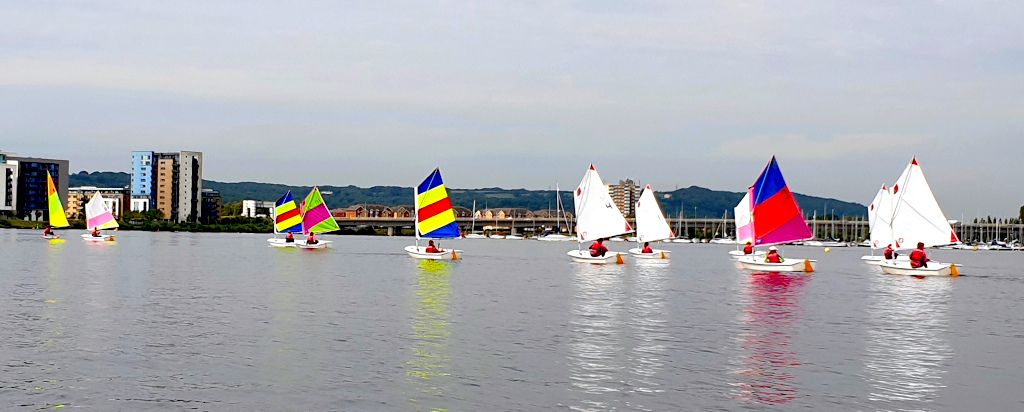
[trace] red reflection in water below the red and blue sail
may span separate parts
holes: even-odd
[[[742,358],[734,372],[742,377],[734,397],[761,404],[785,404],[797,398],[793,368],[801,366],[790,347],[799,320],[800,292],[810,278],[756,273],[742,288],[748,298],[739,334]]]

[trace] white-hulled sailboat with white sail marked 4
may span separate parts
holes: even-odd
[[[567,252],[573,261],[582,263],[624,263],[623,254],[607,252],[604,256],[591,256],[589,250],[583,250],[583,242],[610,238],[633,232],[633,228],[623,217],[615,207],[615,202],[608,195],[608,187],[601,181],[597,168],[590,165],[584,174],[580,187],[572,194],[577,212],[577,250]]]

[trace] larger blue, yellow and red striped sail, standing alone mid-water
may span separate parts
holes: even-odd
[[[415,189],[416,236],[418,238],[458,238],[462,236],[455,221],[455,210],[447,197],[440,169],[434,169]]]

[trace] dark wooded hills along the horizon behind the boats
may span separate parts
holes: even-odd
[[[125,172],[79,172],[72,174],[71,186],[95,186],[103,188],[124,188],[131,180],[130,175]],[[213,189],[220,192],[225,203],[240,202],[245,199],[276,200],[285,192],[292,191],[297,199],[305,197],[312,187],[293,187],[276,183],[259,183],[253,181],[222,182],[216,180],[203,180],[203,188]],[[528,191],[525,189],[449,189],[452,196],[452,203],[456,206],[467,208],[473,207],[476,201],[477,209],[487,207],[524,207],[530,210],[541,210],[555,207],[555,191]],[[324,201],[333,208],[348,207],[360,203],[381,204],[387,206],[412,205],[413,188],[400,188],[390,186],[375,186],[372,188],[357,188],[354,186],[322,186],[321,192],[324,194]],[[330,192],[330,194],[328,194]],[[562,191],[560,193],[565,208],[570,212],[572,206],[572,192]],[[861,216],[866,217],[867,209],[864,205],[851,202],[843,202],[836,199],[818,198],[795,194],[797,203],[804,209],[804,213],[810,216],[814,210],[818,211],[818,216],[828,211],[835,210],[837,216]],[[689,187],[673,192],[658,193],[658,200],[665,213],[670,216],[677,216],[679,209],[685,208],[683,213],[687,217],[720,217],[728,212],[732,216],[732,208],[739,203],[743,194],[738,192],[713,191],[699,187]],[[693,208],[696,208],[694,211]]]

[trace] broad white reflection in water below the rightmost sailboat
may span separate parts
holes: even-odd
[[[876,276],[867,306],[867,362],[872,389],[868,399],[881,409],[928,410],[945,387],[944,367],[952,348],[943,337],[955,279]]]

